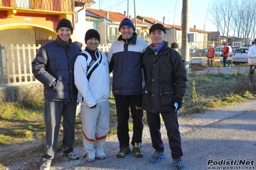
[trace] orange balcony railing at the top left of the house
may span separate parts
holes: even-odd
[[[74,0],[1,0],[0,7],[73,13]]]

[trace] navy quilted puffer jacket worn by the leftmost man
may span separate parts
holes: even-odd
[[[58,37],[38,49],[37,56],[32,61],[32,72],[44,84],[44,97],[47,100],[76,100],[78,90],[74,85],[74,61],[80,52],[81,48],[72,43],[71,39],[67,43]]]

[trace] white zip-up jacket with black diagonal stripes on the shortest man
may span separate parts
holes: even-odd
[[[104,52],[96,50],[93,57],[86,50],[81,52],[74,63],[74,84],[81,105],[93,107],[110,98],[108,58]]]

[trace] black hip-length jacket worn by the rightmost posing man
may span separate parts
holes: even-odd
[[[167,43],[157,54],[148,47],[142,63],[146,80],[142,109],[149,112],[174,111],[174,102],[181,107],[187,76],[180,54],[167,47]]]

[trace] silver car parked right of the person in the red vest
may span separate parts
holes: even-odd
[[[232,63],[248,63],[248,51],[249,47],[236,49],[231,59]]]

